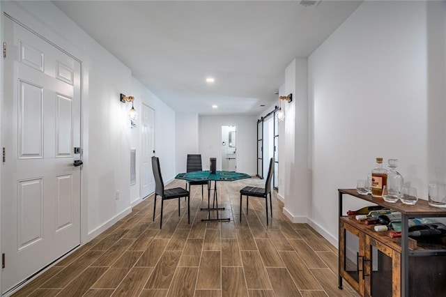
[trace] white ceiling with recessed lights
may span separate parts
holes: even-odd
[[[255,115],[277,100],[286,66],[309,56],[362,2],[53,3],[176,112]]]

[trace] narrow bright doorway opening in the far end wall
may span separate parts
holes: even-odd
[[[237,171],[237,127],[222,125],[222,170]]]

